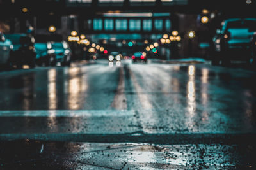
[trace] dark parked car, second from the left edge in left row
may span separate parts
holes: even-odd
[[[10,52],[10,63],[12,66],[22,68],[28,65],[29,68],[35,67],[35,39],[27,34],[6,34],[13,44],[13,50]]]

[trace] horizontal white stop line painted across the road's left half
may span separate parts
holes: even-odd
[[[0,111],[0,117],[122,117],[134,115],[133,110],[29,110]]]

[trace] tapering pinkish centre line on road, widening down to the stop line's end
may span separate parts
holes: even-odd
[[[115,108],[116,110],[127,110],[127,99],[124,91],[124,68],[120,67],[118,86],[113,102],[111,103],[112,108]]]

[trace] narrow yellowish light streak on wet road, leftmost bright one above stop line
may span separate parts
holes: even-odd
[[[57,89],[56,89],[56,69],[48,71],[48,106],[49,110],[56,110],[57,108]]]

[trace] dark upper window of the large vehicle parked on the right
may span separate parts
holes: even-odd
[[[256,20],[236,20],[236,21],[228,22],[227,29],[256,30]]]

